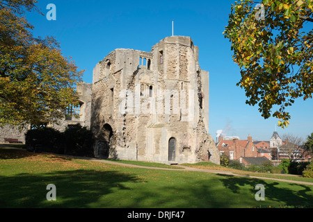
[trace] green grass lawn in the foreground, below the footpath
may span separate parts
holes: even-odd
[[[56,185],[56,201],[46,199]],[[265,201],[255,200],[255,186]],[[0,207],[312,207],[313,186],[120,167],[0,148]]]

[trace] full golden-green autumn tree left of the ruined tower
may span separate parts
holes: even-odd
[[[65,58],[54,37],[33,37],[24,17],[35,0],[0,1],[0,126],[55,122],[78,101],[83,71]]]

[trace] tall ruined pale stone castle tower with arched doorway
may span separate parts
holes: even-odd
[[[209,73],[191,37],[150,52],[115,49],[93,72],[95,155],[161,163],[219,164],[209,135]]]

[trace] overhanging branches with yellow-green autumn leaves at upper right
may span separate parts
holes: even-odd
[[[232,5],[223,33],[241,69],[237,86],[245,89],[246,103],[259,105],[265,119],[280,119],[282,128],[296,99],[312,99],[312,27],[312,0],[241,0]]]

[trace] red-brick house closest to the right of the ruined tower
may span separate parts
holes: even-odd
[[[230,160],[239,160],[240,157],[258,157],[258,151],[255,144],[252,142],[250,135],[247,139],[241,140],[238,138],[225,139],[218,138],[216,144],[220,155],[227,155]]]

